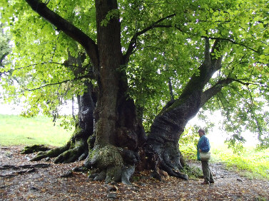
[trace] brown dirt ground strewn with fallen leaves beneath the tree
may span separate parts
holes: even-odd
[[[210,164],[211,185],[169,176],[159,182],[147,172],[135,175],[132,185],[107,185],[88,180],[86,173],[62,178],[79,163],[29,162],[33,155],[20,154],[21,148],[0,147],[0,200],[269,200],[268,181],[242,178],[220,163]],[[35,164],[49,167],[26,166]]]

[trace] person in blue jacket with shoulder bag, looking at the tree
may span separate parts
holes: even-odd
[[[202,162],[202,170],[203,170],[203,178],[204,178],[204,181],[201,184],[207,185],[209,183],[214,183],[214,180],[213,180],[213,176],[208,165],[208,161],[202,161],[200,158],[200,153],[210,151],[210,143],[208,141],[208,138],[205,136],[205,130],[199,129],[198,134],[200,136],[200,139],[197,145],[197,158],[198,158],[198,161]]]

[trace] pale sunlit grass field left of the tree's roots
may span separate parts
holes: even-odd
[[[46,116],[25,118],[0,114],[0,146],[44,144],[62,146],[72,131],[54,126]]]

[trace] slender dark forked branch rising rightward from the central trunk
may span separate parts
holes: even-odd
[[[168,19],[168,18],[172,18],[173,16],[176,16],[176,14],[171,14],[169,16],[163,17],[161,19],[159,19],[158,21],[154,22],[151,26],[148,26],[146,28],[144,28],[142,31],[138,31],[133,38],[131,38],[131,41],[128,45],[128,49],[126,51],[126,54],[124,55],[124,62],[126,63],[128,61],[128,59],[130,58],[131,54],[133,53],[134,48],[136,48],[136,40],[138,38],[138,36],[141,36],[143,33],[146,33],[147,31],[153,29],[153,28],[157,28],[157,27],[165,27],[165,28],[170,28],[171,26],[166,26],[166,25],[158,25],[158,23],[161,23],[162,21]]]

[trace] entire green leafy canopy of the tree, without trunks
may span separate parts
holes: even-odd
[[[49,1],[49,8],[96,41],[93,1]],[[54,115],[60,104],[83,93],[89,58],[76,75],[76,63],[64,65],[68,53],[78,57],[85,50],[32,11],[25,1],[5,1],[1,21],[9,27],[14,50],[1,78],[6,99],[24,97],[26,116],[39,112]],[[223,56],[222,67],[205,89],[220,80],[233,80],[204,110],[218,110],[226,131],[240,139],[245,129],[258,134],[268,146],[269,47],[268,12],[265,0],[218,1],[118,1],[118,11],[103,19],[121,19],[123,53],[135,39],[127,65],[128,93],[143,108],[146,131],[163,106],[178,98],[205,60],[204,41],[220,40],[213,56]],[[29,27],[29,28],[25,28]],[[82,78],[83,77],[83,78]],[[93,81],[94,82],[94,81]],[[171,83],[172,90],[168,85]],[[204,90],[205,90],[204,89]]]

